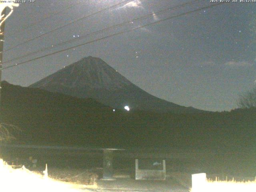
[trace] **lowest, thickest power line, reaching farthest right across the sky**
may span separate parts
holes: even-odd
[[[96,40],[92,40],[92,41],[89,41],[89,42],[86,42],[86,43],[83,43],[83,44],[79,44],[79,45],[76,45],[76,46],[72,46],[72,47],[70,47],[70,48],[66,48],[66,49],[59,50],[59,51],[56,51],[56,52],[53,52],[53,53],[50,53],[50,54],[46,54],[46,55],[44,55],[44,56],[40,56],[40,57],[37,57],[37,58],[34,58],[34,59],[30,59],[30,60],[27,60],[27,61],[24,61],[24,62],[20,62],[20,63],[14,64],[14,65],[5,67],[5,68],[3,68],[3,70],[4,70],[4,69],[11,68],[11,67],[14,67],[14,66],[18,66],[18,65],[21,65],[21,64],[30,62],[30,61],[34,61],[34,60],[37,60],[37,59],[40,59],[40,58],[44,58],[44,57],[46,57],[46,56],[54,55],[54,54],[57,54],[57,53],[60,53],[60,52],[66,51],[66,50],[70,50],[70,49],[73,49],[73,48],[76,48],[76,47],[79,47],[79,46],[83,46],[83,45],[86,45],[86,44],[90,44],[90,43],[92,43],[92,42],[104,40],[104,39],[110,38],[110,37],[112,37],[112,36],[116,36],[116,35],[119,35],[119,34],[124,34],[124,33],[127,33],[127,32],[131,32],[131,31],[134,31],[134,30],[137,30],[137,29],[146,27],[146,26],[150,26],[150,25],[153,25],[153,24],[157,24],[157,23],[160,23],[160,22],[163,22],[163,21],[166,21],[166,20],[170,20],[170,19],[173,19],[173,18],[177,18],[177,17],[180,17],[180,16],[184,16],[184,15],[187,15],[187,14],[190,14],[190,13],[198,12],[198,11],[200,11],[200,10],[209,9],[209,8],[212,8],[212,7],[215,7],[215,6],[219,6],[219,5],[222,5],[222,4],[225,4],[225,2],[223,2],[223,3],[222,3],[222,2],[219,2],[219,3],[216,3],[216,4],[212,4],[212,5],[210,5],[210,6],[198,8],[198,9],[196,9],[196,10],[192,10],[192,11],[189,11],[189,12],[185,12],[185,13],[182,13],[182,14],[178,14],[178,15],[176,15],[176,16],[171,16],[171,17],[168,17],[168,18],[165,18],[165,19],[162,19],[162,20],[158,20],[158,21],[153,22],[153,23],[145,24],[145,25],[142,25],[142,26],[139,26],[139,27],[130,29],[130,30],[126,30],[126,31],[122,31],[122,32],[117,32],[117,33],[114,33],[114,34],[111,34],[111,35],[108,35],[108,36],[105,36],[105,37],[102,37],[102,38],[98,38],[98,39],[96,39]]]

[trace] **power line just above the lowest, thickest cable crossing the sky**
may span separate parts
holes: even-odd
[[[154,12],[154,13],[152,13],[152,14],[147,14],[147,15],[142,16],[142,17],[139,17],[139,18],[134,18],[134,19],[132,19],[132,20],[129,20],[129,21],[126,21],[126,22],[122,22],[122,23],[120,23],[120,24],[116,24],[116,25],[114,25],[114,26],[110,26],[110,27],[104,28],[104,29],[98,30],[98,31],[96,31],[96,32],[92,32],[92,33],[90,33],[90,34],[85,34],[85,35],[80,36],[80,37],[78,37],[78,38],[72,38],[72,39],[67,40],[67,41],[65,41],[65,42],[61,42],[61,43],[54,44],[54,45],[48,46],[48,47],[46,47],[46,48],[43,48],[43,49],[40,49],[40,50],[37,50],[37,51],[34,51],[34,52],[30,52],[30,53],[25,54],[25,55],[23,55],[23,56],[19,56],[19,57],[17,57],[17,58],[13,58],[13,59],[11,59],[11,60],[8,60],[8,61],[6,61],[6,62],[3,62],[2,64],[8,63],[8,62],[11,62],[11,61],[14,61],[14,60],[18,60],[18,59],[24,58],[24,57],[26,57],[26,56],[33,55],[33,54],[36,54],[36,53],[38,53],[38,52],[42,52],[42,51],[45,51],[45,50],[49,50],[49,49],[52,49],[52,48],[56,48],[56,47],[58,47],[58,46],[67,44],[67,43],[69,43],[69,42],[72,42],[72,41],[75,41],[75,40],[78,40],[78,39],[83,39],[83,38],[88,37],[88,36],[91,36],[91,35],[99,34],[99,33],[101,33],[101,32],[104,32],[105,30],[110,30],[110,29],[113,29],[113,28],[117,28],[117,27],[123,26],[123,25],[125,25],[125,24],[129,24],[129,23],[131,23],[131,22],[134,22],[134,21],[136,21],[136,20],[145,19],[145,18],[148,18],[148,17],[150,17],[150,16],[163,14],[163,13],[166,12],[166,11],[174,10],[174,9],[180,8],[180,7],[184,7],[184,6],[188,5],[188,4],[194,4],[195,2],[199,2],[199,1],[202,1],[202,0],[193,0],[193,1],[191,1],[191,2],[187,2],[187,3],[184,3],[184,4],[180,4],[180,5],[177,5],[177,6],[174,6],[174,7],[170,7],[170,8],[164,9],[164,10],[160,10],[160,11]]]

